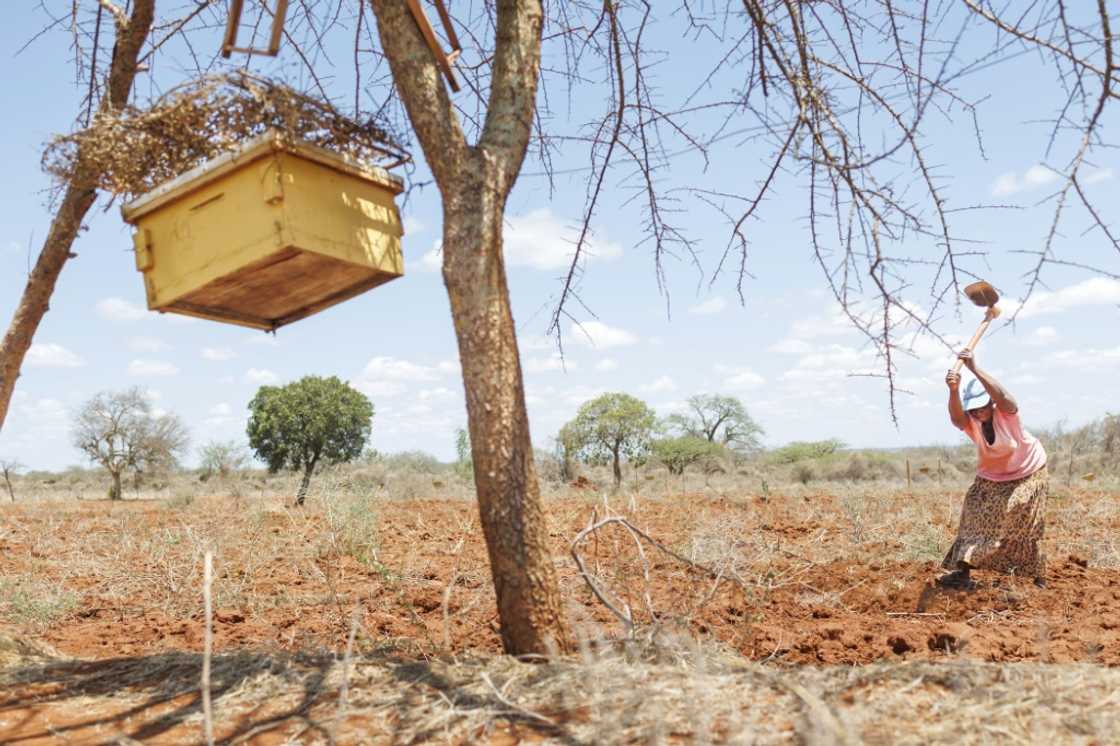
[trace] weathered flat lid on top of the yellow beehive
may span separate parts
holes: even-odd
[[[140,195],[127,205],[122,205],[121,216],[125,223],[136,223],[148,213],[221,179],[230,171],[277,151],[290,152],[348,176],[373,181],[393,194],[400,194],[404,190],[404,183],[401,178],[380,166],[370,166],[349,156],[342,156],[302,140],[292,140],[277,130],[269,130],[246,140],[235,150],[199,164],[189,171],[185,171],[174,179],[160,184],[151,192]]]

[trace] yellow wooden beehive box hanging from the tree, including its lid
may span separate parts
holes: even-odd
[[[276,329],[404,273],[401,179],[278,132],[124,205],[148,308]]]

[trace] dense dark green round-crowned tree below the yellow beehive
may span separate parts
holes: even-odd
[[[270,472],[304,473],[297,505],[307,498],[316,466],[344,464],[362,455],[373,421],[373,404],[365,394],[334,375],[261,386],[249,411],[249,447],[256,457]]]

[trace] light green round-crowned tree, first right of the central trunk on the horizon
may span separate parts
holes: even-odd
[[[635,397],[605,393],[585,402],[564,426],[585,459],[610,464],[615,489],[623,483],[623,458],[644,458],[657,427],[657,414]]]

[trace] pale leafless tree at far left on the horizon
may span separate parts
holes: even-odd
[[[74,446],[112,477],[110,500],[121,500],[121,477],[175,466],[189,436],[175,414],[156,414],[139,388],[105,391],[74,418]]]

